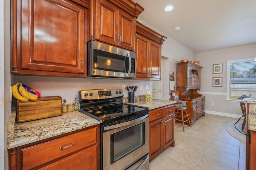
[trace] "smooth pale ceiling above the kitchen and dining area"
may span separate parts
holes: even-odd
[[[195,53],[256,43],[256,0],[133,1],[144,8],[139,18]]]

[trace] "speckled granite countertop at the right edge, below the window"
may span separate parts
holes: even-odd
[[[249,103],[249,113],[256,113],[256,99],[243,99],[244,103]],[[248,115],[248,129],[256,131],[256,115]]]

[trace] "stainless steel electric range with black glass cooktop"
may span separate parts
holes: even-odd
[[[102,121],[101,169],[148,170],[148,109],[122,97],[122,89],[79,91],[80,112]]]

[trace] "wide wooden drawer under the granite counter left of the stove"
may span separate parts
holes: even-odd
[[[31,169],[86,146],[96,144],[97,127],[21,149],[23,170]],[[70,146],[68,148],[64,148]],[[64,149],[60,149],[60,147]]]

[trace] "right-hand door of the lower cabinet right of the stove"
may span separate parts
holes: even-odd
[[[174,141],[174,114],[164,117],[163,127],[163,149],[168,148]]]

